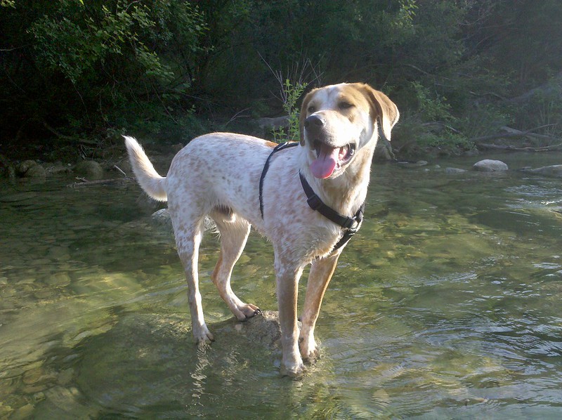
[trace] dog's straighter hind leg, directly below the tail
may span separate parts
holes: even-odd
[[[172,218],[174,221],[174,218]],[[199,246],[202,237],[201,221],[193,223],[188,227],[187,223],[174,225],[176,232],[176,246],[178,255],[185,270],[185,279],[188,282],[188,302],[191,313],[191,324],[193,336],[197,344],[209,343],[214,340],[213,334],[209,332],[203,317],[201,293],[199,291],[199,276],[197,263],[199,260]]]

